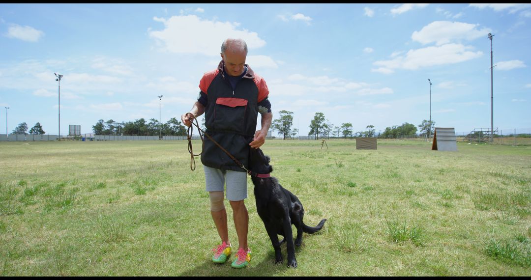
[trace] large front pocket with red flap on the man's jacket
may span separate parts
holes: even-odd
[[[230,97],[216,99],[214,129],[218,131],[243,133],[246,110],[246,99]]]

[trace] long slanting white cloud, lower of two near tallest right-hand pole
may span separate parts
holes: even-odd
[[[422,67],[465,62],[483,55],[481,51],[470,51],[471,48],[450,43],[438,47],[409,50],[405,56],[374,62],[375,66],[381,67],[376,70],[372,69],[372,71],[385,73],[397,68],[415,70]]]

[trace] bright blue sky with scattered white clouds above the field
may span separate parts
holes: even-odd
[[[529,4],[0,4],[0,133],[39,122],[91,133],[99,119],[165,123],[190,110],[228,37],[249,46],[273,119],[315,112],[373,125],[456,132],[531,127]],[[258,126],[260,128],[260,124]],[[276,134],[273,134],[276,135]]]

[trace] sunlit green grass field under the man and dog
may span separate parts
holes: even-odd
[[[185,141],[0,143],[0,275],[531,275],[531,147],[327,144],[262,147],[305,223],[328,221],[304,234],[296,269],[273,264],[249,178],[253,258],[237,270],[211,262],[219,237]]]

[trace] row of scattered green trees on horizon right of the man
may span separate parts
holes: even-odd
[[[282,110],[279,112],[280,117],[271,123],[271,129],[277,131],[284,139],[294,137],[298,134],[298,129],[293,126],[293,112]],[[423,120],[418,127],[421,135],[433,134],[434,121]],[[353,133],[352,123],[342,123],[341,125],[334,125],[324,117],[322,112],[316,112],[314,118],[310,122],[310,132],[308,136],[313,135],[315,139],[321,137],[380,137],[380,138],[397,138],[399,135],[416,135],[417,127],[413,124],[404,123],[401,126],[386,127],[383,133],[376,134],[376,129],[373,125],[367,125],[366,130]]]

